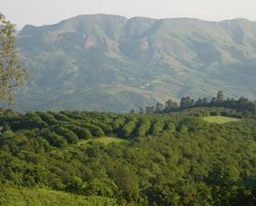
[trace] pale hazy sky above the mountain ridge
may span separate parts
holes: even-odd
[[[0,12],[18,28],[83,14],[256,20],[256,0],[0,0],[0,6]]]

